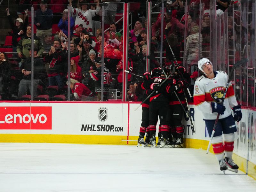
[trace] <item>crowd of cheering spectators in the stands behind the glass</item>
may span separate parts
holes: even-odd
[[[21,1],[15,2],[22,3]],[[100,12],[104,2],[106,4],[105,26],[109,27],[107,32],[101,30],[102,15]],[[119,2],[120,0],[24,1],[19,7],[17,13],[19,17],[15,19],[15,23],[7,8],[7,17],[12,28],[12,48],[13,52],[17,52],[18,59],[16,59],[17,66],[12,67],[6,54],[0,53],[0,76],[2,77],[0,80],[4,84],[2,90],[0,89],[2,99],[20,99],[24,95],[29,95],[31,93],[31,73],[34,73],[34,97],[39,94],[47,94],[51,88],[56,88],[56,94],[67,94],[65,89],[67,89],[68,76],[72,79],[70,88],[74,100],[83,100],[81,94],[74,94],[76,87],[79,87],[77,90],[82,89],[82,92],[86,87],[85,92],[91,91],[92,94],[90,92],[85,98],[94,96],[94,100],[98,101],[100,101],[101,91],[104,93],[104,100],[108,99],[108,88],[122,92],[125,46],[122,32],[118,32],[115,19]],[[158,18],[151,23],[150,42],[147,42],[147,19],[133,21],[133,29],[129,31],[129,59],[127,62],[129,71],[138,75],[147,71],[146,61],[149,45],[150,55],[160,57],[158,52],[161,47],[162,30],[164,34],[163,65],[170,65],[171,61],[182,65],[183,59],[186,60],[187,65],[196,65],[198,58],[202,56],[200,51],[204,50],[202,44],[209,43],[210,17],[208,12],[204,12],[203,28],[200,30],[198,15],[194,14],[198,11],[196,7],[199,4],[194,0],[191,0],[191,4],[193,6],[191,5],[189,14],[185,15],[182,1],[165,1],[164,14],[159,14]],[[36,27],[34,51],[31,50],[32,31],[28,17],[32,5],[37,8],[34,18]],[[22,11],[21,8],[24,10]],[[68,9],[71,13],[70,18],[68,18]],[[162,17],[164,17],[164,28],[161,28]],[[68,19],[71,28],[70,41],[68,39]],[[53,25],[57,25],[59,28],[54,34]],[[184,37],[185,27],[187,28],[187,38]],[[102,44],[102,39],[104,39],[104,44]],[[185,50],[183,50],[184,40],[186,41]],[[68,63],[68,45],[70,46],[70,63]],[[183,58],[183,52],[185,52],[186,58]],[[29,67],[31,54],[34,55],[34,72],[31,72],[31,67]],[[102,54],[104,56],[104,79],[102,80],[104,90],[99,88],[101,81],[99,73],[101,74],[102,67],[99,64],[99,58],[101,61]],[[15,58],[15,54],[13,54],[13,58]],[[160,66],[157,59],[150,61],[150,71]],[[11,68],[15,70],[11,70]],[[70,68],[70,74],[68,74],[68,68]],[[17,75],[17,73],[19,74]],[[128,98],[131,101],[138,101],[141,97],[136,95],[135,90],[138,88],[137,82],[142,79],[131,74],[127,75]],[[11,83],[11,80],[15,81]],[[16,93],[10,88],[15,83],[17,84]]]

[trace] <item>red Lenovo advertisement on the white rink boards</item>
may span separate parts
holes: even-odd
[[[0,107],[0,129],[52,129],[52,107]]]

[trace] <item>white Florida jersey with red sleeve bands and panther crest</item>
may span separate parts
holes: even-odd
[[[204,119],[216,119],[218,113],[212,113],[211,102],[221,103],[228,82],[228,75],[223,71],[214,71],[215,77],[209,79],[202,75],[199,77],[194,86],[194,104],[203,113]],[[229,82],[228,91],[225,96],[223,105],[226,107],[220,119],[231,115],[230,107],[237,104],[234,89]]]

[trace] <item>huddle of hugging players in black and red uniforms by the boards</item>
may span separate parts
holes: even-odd
[[[173,66],[163,67],[163,69],[155,68],[151,74],[144,73],[144,82],[141,84],[141,88],[146,89],[144,96],[148,99],[142,104],[142,123],[138,146],[183,147],[184,126],[181,124],[181,120],[184,111],[175,96],[179,97],[182,105],[185,103],[184,95],[182,95],[182,87],[185,82],[180,80],[180,74],[185,72],[184,67]],[[156,143],[158,116],[160,125]],[[144,142],[146,132],[147,136]]]

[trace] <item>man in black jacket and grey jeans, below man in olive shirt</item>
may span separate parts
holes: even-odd
[[[37,45],[34,45],[34,50],[28,49],[29,50],[29,58],[26,58],[24,60],[24,63],[22,63],[22,65],[20,66],[20,70],[22,73],[22,80],[20,80],[20,84],[19,84],[19,93],[18,93],[18,97],[21,97],[23,95],[26,95],[26,93],[28,92],[28,89],[31,93],[31,54],[34,55],[34,61],[33,61],[33,65],[34,65],[34,81],[33,81],[33,85],[34,85],[34,97],[36,97],[36,90],[37,90],[37,85],[39,83],[39,79],[40,76],[46,76],[46,69],[44,66],[44,63],[42,61],[42,59],[40,59],[37,56]]]

